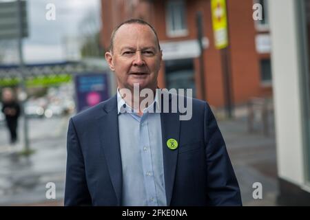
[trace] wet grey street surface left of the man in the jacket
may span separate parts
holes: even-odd
[[[32,203],[55,204],[46,199],[45,185],[56,184],[56,201],[62,201],[65,179],[66,131],[68,118],[32,118],[29,120],[30,157],[19,156],[8,150],[8,134],[0,128],[0,205],[31,205]],[[19,124],[19,134],[22,134]],[[12,148],[21,148],[19,144]],[[56,203],[58,204],[58,203]]]

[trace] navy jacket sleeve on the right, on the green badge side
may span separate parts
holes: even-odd
[[[225,141],[207,102],[204,118],[209,206],[242,206],[240,188]]]

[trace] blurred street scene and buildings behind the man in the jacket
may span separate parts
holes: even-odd
[[[68,120],[116,93],[104,53],[130,18],[157,30],[159,87],[211,105],[243,204],[309,206],[307,0],[0,0],[0,206],[63,206]]]

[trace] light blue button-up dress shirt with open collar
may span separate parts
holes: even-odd
[[[123,169],[123,206],[167,206],[163,169],[161,115],[154,102],[140,116],[126,104],[117,89],[118,132]]]

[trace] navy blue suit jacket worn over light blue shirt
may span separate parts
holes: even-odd
[[[171,98],[169,99],[171,102]],[[192,119],[161,113],[168,206],[241,206],[238,181],[207,102]],[[178,141],[171,150],[169,138]],[[65,206],[121,206],[122,164],[116,96],[70,119]]]

